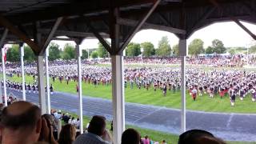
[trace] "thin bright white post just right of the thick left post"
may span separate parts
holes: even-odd
[[[48,66],[49,48],[46,48],[45,60],[46,60],[46,93],[47,93],[47,110],[50,114],[50,79],[49,79],[49,66]]]

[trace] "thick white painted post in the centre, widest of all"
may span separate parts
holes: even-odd
[[[111,63],[114,143],[121,143],[122,132],[125,130],[123,56],[111,55]]]

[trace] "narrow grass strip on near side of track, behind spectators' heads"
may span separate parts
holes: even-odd
[[[78,116],[76,114],[71,114],[75,118]],[[83,123],[84,126],[90,122],[90,117],[83,117]],[[134,128],[135,130],[138,130],[138,132],[141,134],[142,137],[145,135],[148,135],[150,139],[153,141],[161,142],[162,140],[166,140],[168,144],[176,144],[178,143],[178,135],[175,134],[167,134],[163,133],[161,131],[156,131],[156,130],[149,130],[149,129],[142,129],[137,126],[130,126],[126,125],[126,128]],[[110,122],[107,122],[107,129],[110,130]],[[256,142],[227,142],[227,144],[256,144]]]

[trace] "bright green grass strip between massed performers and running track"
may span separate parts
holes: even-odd
[[[14,76],[13,78],[9,78],[15,82],[21,82],[22,78],[18,78]],[[26,76],[26,83],[33,83],[33,78],[30,76]],[[60,83],[58,80],[50,83],[53,84],[55,91],[62,91],[66,93],[76,94],[76,84],[77,82],[70,82],[69,85],[66,82]],[[94,86],[92,84],[88,84],[87,82],[82,82],[82,94],[98,97],[98,98],[107,98],[111,99],[111,85],[109,86]],[[153,87],[150,90],[146,90],[142,88],[139,90],[134,86],[134,89],[130,89],[128,85],[125,90],[125,98],[126,102],[135,102],[142,103],[146,105],[154,105],[154,106],[166,106],[171,108],[180,108],[181,107],[181,96],[180,92],[177,91],[173,93],[172,91],[167,91],[166,97],[163,97],[162,91],[157,90],[154,92]],[[206,94],[202,97],[198,97],[194,102],[189,94],[186,94],[186,108],[189,110],[201,110],[201,111],[213,111],[213,112],[228,112],[228,113],[255,113],[256,112],[256,103],[251,102],[250,96],[245,98],[244,101],[240,101],[237,98],[235,106],[230,106],[230,100],[228,96],[225,98],[219,98],[219,96],[215,96],[215,98],[209,98]]]

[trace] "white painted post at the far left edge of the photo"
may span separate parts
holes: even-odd
[[[7,92],[6,92],[6,63],[5,63],[5,48],[2,48],[2,81],[3,81],[3,91],[4,91],[4,98],[5,98],[5,106],[7,106]],[[1,96],[2,98],[2,96]]]

